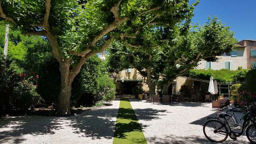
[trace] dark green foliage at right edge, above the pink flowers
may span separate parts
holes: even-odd
[[[249,70],[246,74],[246,89],[256,94],[256,70]]]

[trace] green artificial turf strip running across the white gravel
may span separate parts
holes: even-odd
[[[128,98],[121,98],[113,144],[147,144]]]

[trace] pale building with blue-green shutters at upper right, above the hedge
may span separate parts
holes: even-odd
[[[250,69],[256,66],[256,40],[242,40],[237,43],[234,51],[218,56],[217,62],[199,62],[196,69],[212,70],[229,69],[237,70],[239,67]]]

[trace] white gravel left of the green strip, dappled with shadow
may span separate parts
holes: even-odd
[[[64,118],[0,119],[0,144],[112,144],[119,103]]]

